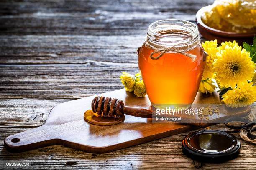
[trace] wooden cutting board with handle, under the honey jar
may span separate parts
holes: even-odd
[[[148,97],[135,97],[124,89],[100,94],[123,100],[126,106],[151,109]],[[95,96],[65,102],[54,107],[45,125],[5,138],[5,147],[21,152],[49,145],[64,145],[92,153],[106,153],[169,135],[183,133],[196,127],[179,123],[152,123],[152,119],[125,115],[125,121],[113,126],[97,126],[84,121]],[[220,103],[217,93],[197,94],[194,103]],[[248,112],[248,108],[240,113]],[[236,112],[223,111],[223,117]]]

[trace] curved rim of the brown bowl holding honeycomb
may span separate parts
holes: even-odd
[[[223,37],[253,37],[256,35],[256,33],[235,33],[235,32],[226,32],[217,30],[215,28],[207,26],[205,23],[202,22],[202,13],[204,13],[208,8],[210,8],[212,5],[208,5],[205,7],[202,7],[200,10],[197,11],[196,14],[196,23],[199,27],[202,27],[203,29],[207,30],[210,33],[221,35]]]

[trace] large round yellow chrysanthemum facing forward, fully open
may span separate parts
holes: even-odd
[[[235,88],[237,84],[252,80],[255,63],[251,60],[250,53],[241,48],[241,46],[226,46],[225,50],[217,53],[213,70],[221,87]]]

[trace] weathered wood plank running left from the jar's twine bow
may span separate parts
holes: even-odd
[[[137,63],[140,36],[0,35],[0,64]],[[205,39],[202,38],[201,42]]]

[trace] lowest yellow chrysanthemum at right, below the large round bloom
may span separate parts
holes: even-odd
[[[238,85],[237,88],[228,90],[222,97],[222,101],[229,107],[245,107],[256,100],[256,86],[253,82]]]

